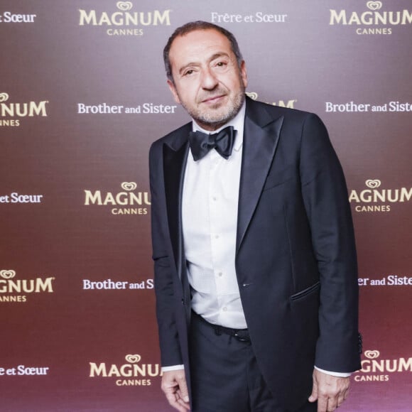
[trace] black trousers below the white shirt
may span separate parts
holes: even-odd
[[[192,412],[316,412],[306,402],[286,411],[259,371],[247,332],[229,335],[193,313],[190,325]]]

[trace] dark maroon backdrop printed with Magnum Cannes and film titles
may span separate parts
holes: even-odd
[[[162,50],[192,20],[237,36],[251,98],[325,121],[364,336],[342,411],[411,411],[410,0],[1,0],[0,410],[170,410],[148,148],[188,121]]]

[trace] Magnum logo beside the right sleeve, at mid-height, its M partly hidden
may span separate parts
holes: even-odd
[[[351,190],[349,202],[356,203],[356,212],[390,212],[394,203],[409,202],[412,198],[412,188],[381,189],[381,180],[368,179],[366,189]]]

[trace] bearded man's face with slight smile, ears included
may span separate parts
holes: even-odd
[[[247,85],[246,67],[237,64],[229,40],[213,29],[173,40],[169,53],[175,101],[203,129],[216,130],[239,112]]]

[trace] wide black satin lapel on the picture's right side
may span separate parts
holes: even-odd
[[[266,119],[267,120],[267,119]],[[247,116],[244,122],[242,171],[239,188],[236,250],[239,250],[256,209],[281,134],[283,116],[265,126]]]

